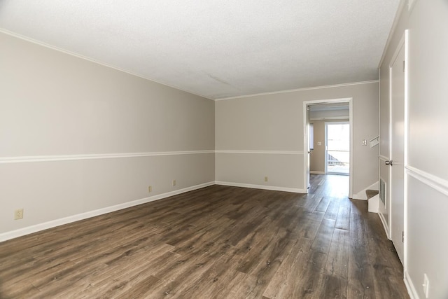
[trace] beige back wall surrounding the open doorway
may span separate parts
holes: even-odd
[[[216,180],[303,191],[303,102],[349,97],[353,98],[353,194],[376,183],[378,148],[362,146],[362,140],[378,135],[379,83],[217,101]]]

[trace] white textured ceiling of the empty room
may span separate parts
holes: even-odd
[[[378,79],[400,0],[0,0],[0,28],[211,99]]]

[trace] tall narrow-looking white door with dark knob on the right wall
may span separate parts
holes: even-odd
[[[405,43],[399,46],[390,71],[391,140],[390,204],[391,239],[398,257],[404,262],[403,235],[405,228]]]

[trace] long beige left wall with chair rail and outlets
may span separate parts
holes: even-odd
[[[0,235],[214,182],[214,101],[6,34],[0,44]]]

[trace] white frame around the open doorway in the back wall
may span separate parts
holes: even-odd
[[[309,111],[308,106],[322,105],[322,104],[335,104],[335,103],[349,103],[349,125],[350,125],[350,167],[349,167],[349,197],[353,196],[353,97],[345,97],[340,99],[316,99],[312,101],[303,102],[303,186],[304,191],[308,193],[309,186],[309,138],[308,138],[308,126],[309,126]]]

